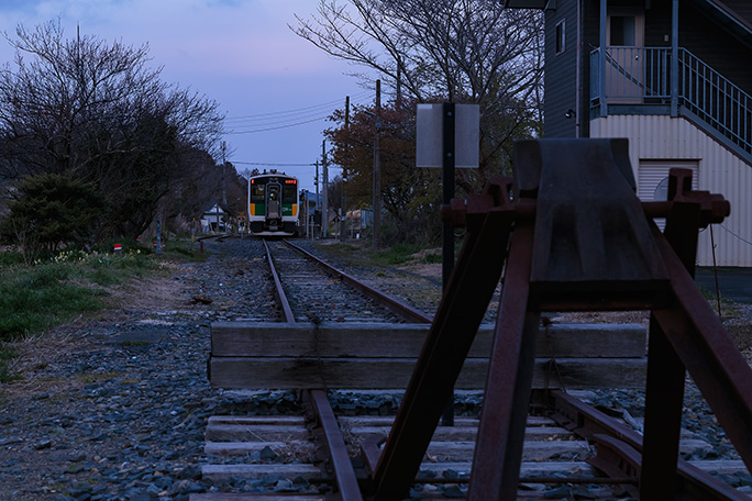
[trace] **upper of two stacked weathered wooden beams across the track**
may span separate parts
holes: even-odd
[[[333,323],[317,329],[308,324],[215,322],[211,325],[211,354],[212,357],[417,358],[429,327],[425,324]],[[493,326],[479,330],[469,357],[488,356],[493,332]],[[541,357],[643,357],[645,335],[645,329],[637,324],[552,324],[541,327],[537,349]]]

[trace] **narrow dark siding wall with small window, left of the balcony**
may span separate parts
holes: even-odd
[[[556,54],[556,24],[565,22],[565,49]],[[543,111],[544,137],[575,137],[577,118],[566,119],[564,113],[576,108],[577,65],[577,5],[576,1],[560,1],[555,10],[545,15],[545,101]]]

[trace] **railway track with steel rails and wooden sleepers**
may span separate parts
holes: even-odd
[[[340,270],[330,267],[327,275],[321,275],[311,266],[311,255],[283,242],[272,242],[265,253],[272,265],[270,281],[276,283],[280,319],[286,323],[320,330],[321,325],[333,323],[430,320],[410,307],[402,307],[400,313],[400,302],[392,298],[365,298],[362,294],[375,291]],[[390,304],[391,310],[383,304]],[[306,416],[210,419],[206,453],[212,464],[203,467],[204,479],[211,478],[218,485],[248,479],[252,492],[192,494],[191,501],[367,499],[362,492],[368,490],[367,479],[378,454],[368,444],[378,443],[388,434],[394,416],[344,415],[353,414],[357,405],[342,402],[357,401],[357,391],[305,393]],[[468,394],[477,398],[477,392]],[[549,415],[528,419],[518,499],[634,499],[634,472],[639,469],[639,454],[635,464],[634,452],[640,447],[635,423],[607,416],[575,397],[587,397],[587,392],[546,394]],[[400,397],[383,392],[381,398],[394,401]],[[416,478],[412,499],[463,497],[476,436],[477,417],[457,417],[455,426],[439,426]],[[610,447],[613,437],[629,447]],[[704,447],[709,444],[683,433],[684,454]],[[718,480],[743,475],[745,468],[740,460],[682,461],[679,467],[683,488],[699,492],[694,499],[752,499]],[[272,498],[273,493],[278,498]]]

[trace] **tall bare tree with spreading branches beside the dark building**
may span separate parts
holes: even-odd
[[[480,168],[457,172],[467,191],[507,171],[513,138],[540,133],[540,12],[493,0],[320,0],[311,20],[296,18],[299,36],[375,70],[395,90],[405,123],[412,120],[405,102],[480,104]]]

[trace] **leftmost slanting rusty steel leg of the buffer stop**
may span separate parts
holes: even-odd
[[[376,501],[405,498],[420,470],[501,276],[513,220],[508,188],[498,179],[467,200],[467,236],[376,467]]]

